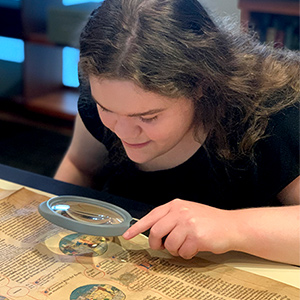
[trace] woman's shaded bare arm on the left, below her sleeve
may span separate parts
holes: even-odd
[[[54,178],[82,186],[91,186],[101,172],[107,150],[85,128],[77,115],[70,147]]]

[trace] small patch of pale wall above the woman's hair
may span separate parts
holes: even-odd
[[[200,0],[200,3],[217,15],[240,18],[238,0]]]

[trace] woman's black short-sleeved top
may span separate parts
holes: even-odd
[[[120,148],[88,92],[81,91],[78,110],[86,128],[109,153]],[[175,198],[224,209],[281,205],[276,195],[299,176],[299,107],[274,115],[266,133],[255,146],[255,163],[243,160],[229,167],[203,147],[183,164],[163,171],[140,171],[129,160],[108,162],[102,188],[155,206]]]

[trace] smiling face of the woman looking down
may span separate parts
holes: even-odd
[[[200,147],[193,136],[192,101],[146,92],[131,81],[90,77],[90,86],[103,124],[142,169],[175,167]]]

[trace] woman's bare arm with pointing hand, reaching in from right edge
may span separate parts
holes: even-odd
[[[155,208],[134,224],[124,233],[124,238],[130,239],[151,228],[151,248],[166,248],[171,254],[187,259],[199,251],[220,254],[236,250],[300,265],[299,184],[300,177],[278,195],[290,204],[283,207],[228,211],[173,200]]]

